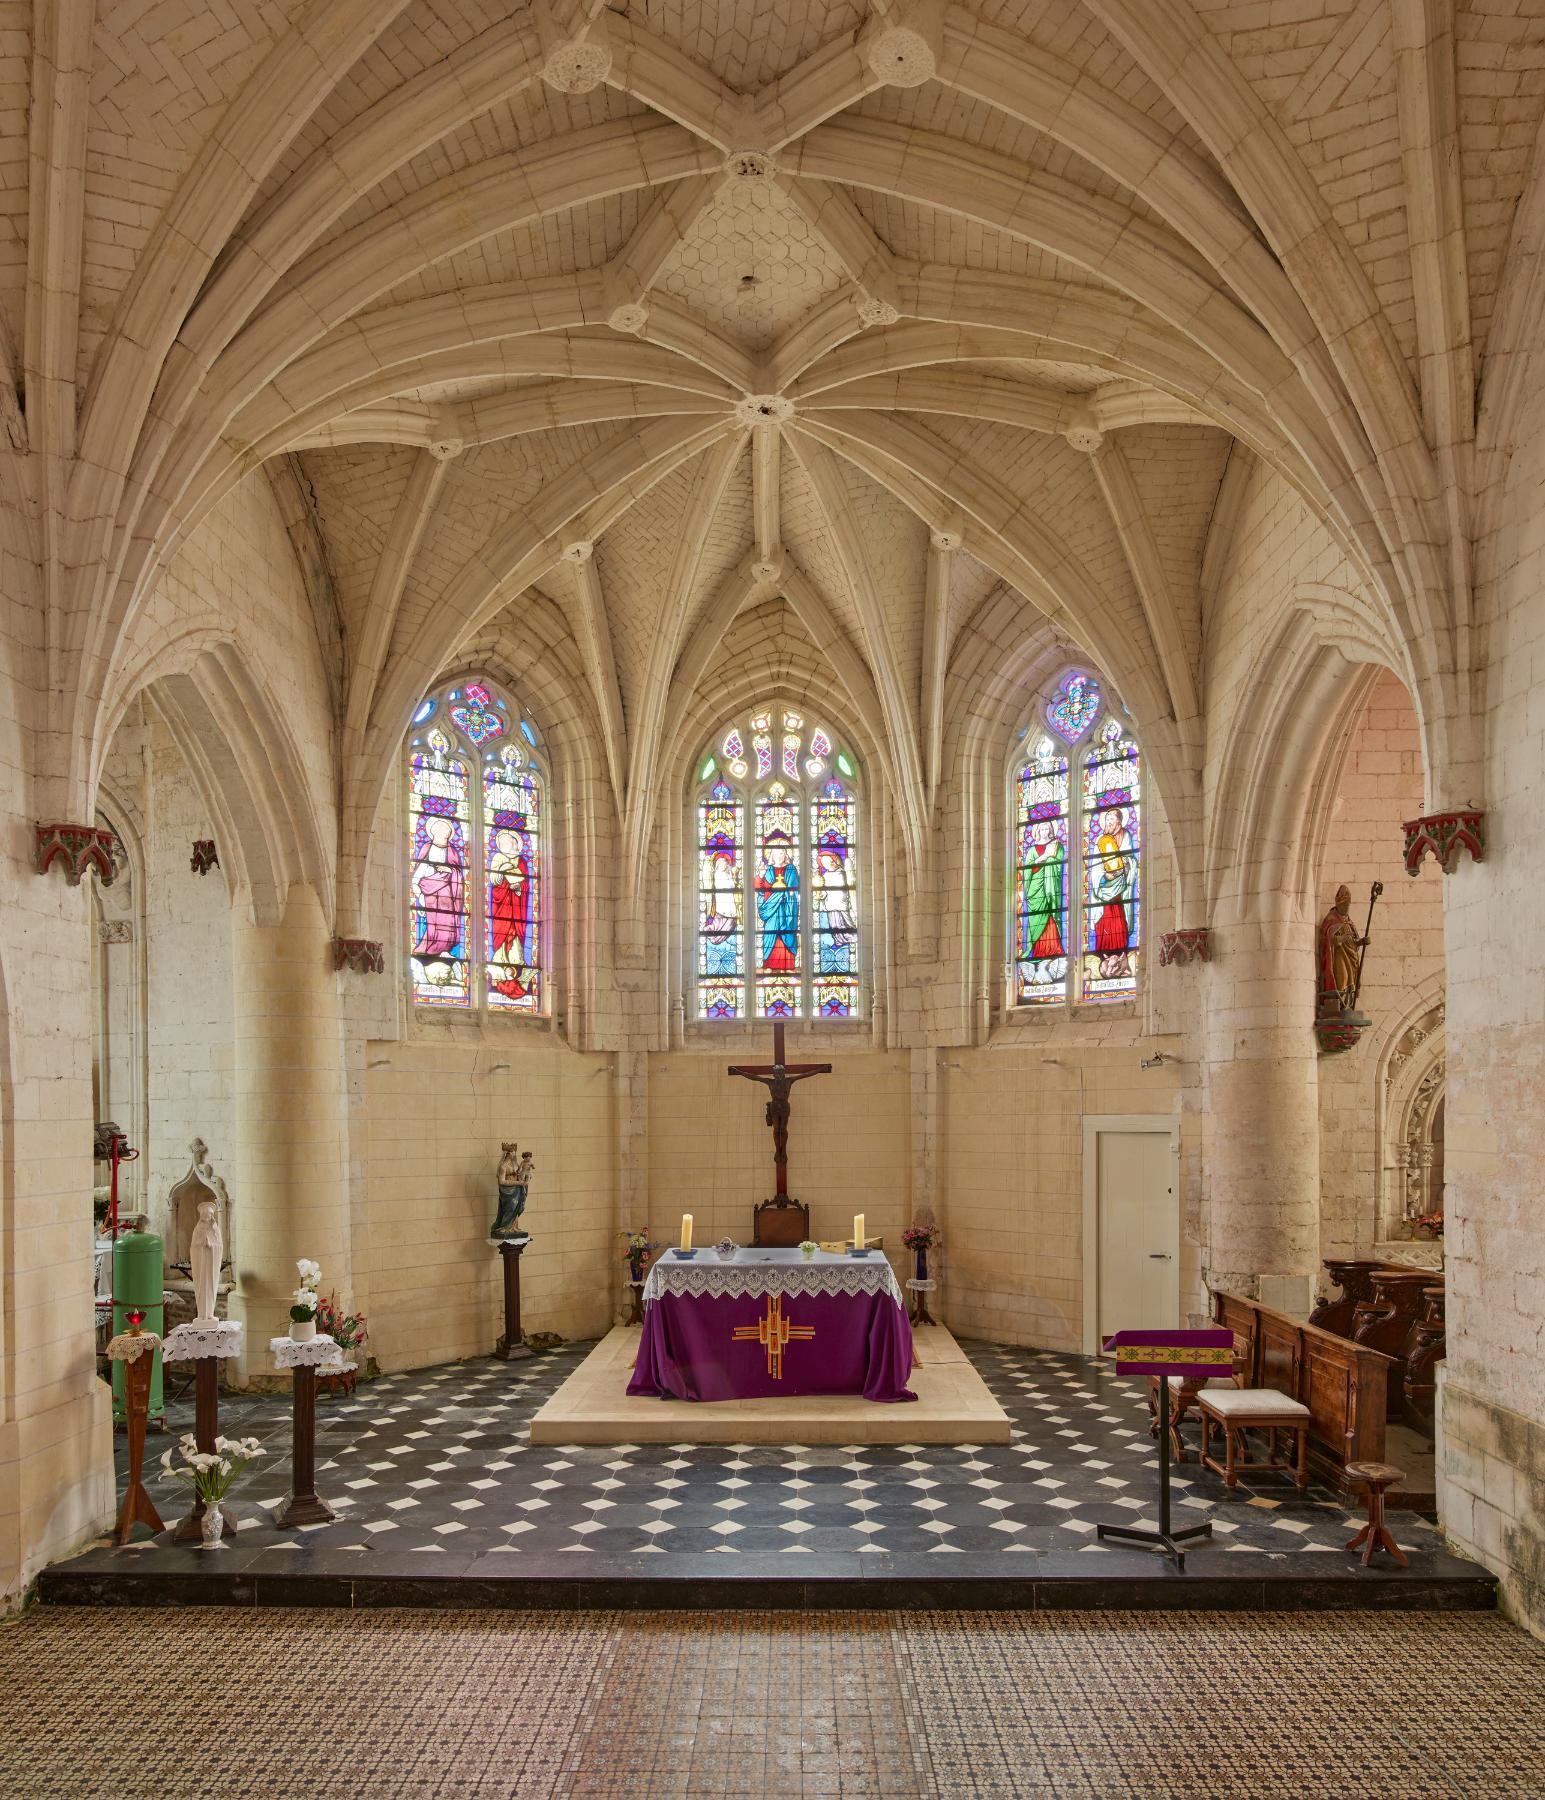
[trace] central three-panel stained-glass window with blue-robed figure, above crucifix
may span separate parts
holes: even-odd
[[[699,769],[697,1017],[855,1017],[854,763],[828,727],[767,706],[726,725]]]

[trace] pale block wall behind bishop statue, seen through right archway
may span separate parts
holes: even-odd
[[[1370,884],[1385,884],[1360,1003],[1374,1024],[1354,1049],[1322,1057],[1318,1067],[1322,1258],[1369,1255],[1379,1237],[1383,1053],[1412,1010],[1442,994],[1442,882],[1432,866],[1415,880],[1405,873],[1401,821],[1421,810],[1415,707],[1399,677],[1385,671],[1347,749],[1320,859],[1320,911],[1345,882],[1358,931]]]

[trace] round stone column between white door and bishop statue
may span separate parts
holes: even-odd
[[[1214,925],[1203,994],[1208,1287],[1307,1316],[1320,1235],[1315,929]]]

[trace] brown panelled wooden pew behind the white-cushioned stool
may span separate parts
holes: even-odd
[[[1345,1492],[1349,1462],[1383,1462],[1392,1359],[1275,1307],[1215,1292],[1212,1318],[1251,1346],[1250,1386],[1309,1408],[1309,1469]]]

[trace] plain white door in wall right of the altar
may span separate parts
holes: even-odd
[[[1104,1341],[1131,1327],[1179,1323],[1179,1210],[1172,1138],[1102,1127],[1095,1148],[1097,1321]]]

